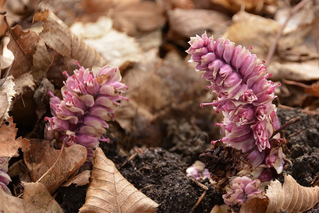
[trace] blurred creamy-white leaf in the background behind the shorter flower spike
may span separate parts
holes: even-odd
[[[76,22],[70,30],[95,48],[106,64],[121,67],[127,62],[141,61],[142,50],[135,39],[114,30],[112,25],[111,19],[100,17],[95,23]]]

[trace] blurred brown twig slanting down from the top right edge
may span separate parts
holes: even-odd
[[[266,63],[267,65],[270,65],[270,62],[271,62],[271,58],[273,56],[273,54],[275,53],[276,51],[276,48],[277,48],[277,44],[279,42],[279,39],[282,35],[282,31],[285,29],[289,19],[291,19],[291,17],[297,12],[299,11],[301,8],[303,8],[310,0],[302,0],[300,1],[298,4],[296,4],[296,6],[293,7],[293,9],[289,12],[287,18],[286,18],[286,21],[284,22],[284,24],[280,27],[277,35],[276,35],[276,38],[275,38],[275,41],[272,43],[269,51],[268,51],[268,55],[266,57]]]

